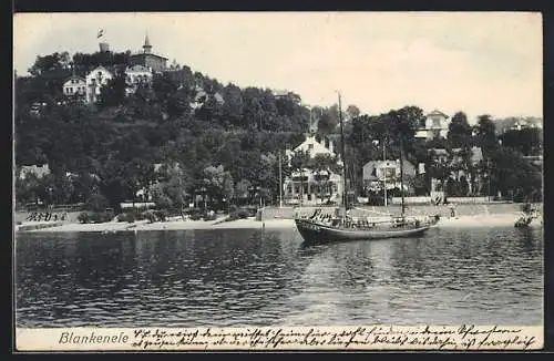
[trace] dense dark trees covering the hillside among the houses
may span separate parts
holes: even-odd
[[[308,109],[296,94],[276,97],[267,89],[223,85],[187,66],[155,74],[152,84],[126,94],[123,70],[127,60],[129,52],[78,53],[72,58],[58,52],[38,56],[30,75],[16,79],[16,166],[48,164],[52,169],[51,176],[41,179],[18,179],[18,200],[80,202],[93,208],[107,203],[116,207],[123,200],[137,199],[141,189],[147,189],[147,197],[150,189],[158,205],[179,209],[194,199],[198,188],[206,187],[219,206],[224,198],[245,200],[245,193],[252,189],[265,194],[267,202],[277,202],[279,154],[284,176],[305,167],[340,172],[335,159],[310,161],[299,153],[291,159],[283,156],[285,149],[305,140],[310,118],[317,124],[318,137],[332,138],[336,152],[340,149],[337,104]],[[102,89],[98,104],[81,104],[63,94],[68,76],[73,72],[83,76],[98,65],[117,68],[122,74]],[[427,162],[430,167],[428,148],[450,152],[468,143],[463,113],[454,115],[449,140],[441,144],[414,138],[418,124],[424,120],[417,106],[368,115],[351,105],[343,115],[349,120],[345,123],[345,147],[351,179],[361,179],[368,161],[382,158],[383,143],[387,158],[399,158],[403,145],[407,159]],[[502,151],[513,148],[506,152],[499,152],[490,116],[481,116],[474,131],[474,141],[483,147],[489,164],[493,157],[501,164],[497,169],[482,172],[494,175],[494,187],[504,193],[512,188],[529,193],[523,174],[535,171],[521,161],[522,153],[541,153],[537,131],[505,132]],[[376,140],[380,143],[375,144]],[[156,175],[152,168],[155,163],[172,166]],[[441,174],[449,169],[433,166],[430,173],[444,178]],[[515,166],[517,172],[507,177],[510,167]]]

